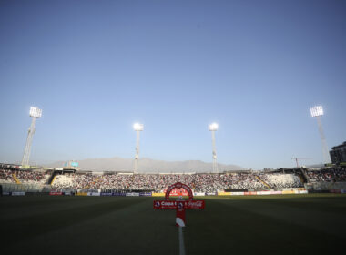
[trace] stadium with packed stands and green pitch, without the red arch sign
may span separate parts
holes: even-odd
[[[177,181],[206,203],[187,211],[186,253],[174,210],[152,207]],[[0,182],[2,249],[15,254],[325,254],[346,238],[343,167],[134,174],[2,164]]]

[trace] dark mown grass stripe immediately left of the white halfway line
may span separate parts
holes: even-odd
[[[132,205],[36,235],[15,244],[18,253],[178,254],[174,211],[157,211],[151,198],[126,198]],[[109,198],[108,201],[114,199]],[[72,218],[77,217],[72,215]],[[53,249],[52,249],[53,248]]]

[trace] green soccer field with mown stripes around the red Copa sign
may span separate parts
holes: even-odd
[[[203,197],[186,254],[342,254],[346,195]],[[175,210],[154,198],[0,198],[2,254],[179,254]]]

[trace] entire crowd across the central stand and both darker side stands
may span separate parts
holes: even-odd
[[[301,174],[301,172],[300,172]],[[129,173],[64,173],[52,183],[56,190],[153,190],[164,192],[175,182],[187,184],[195,192],[218,192],[227,189],[286,189],[303,187],[296,172],[238,172],[221,174],[129,174]],[[306,170],[310,182],[346,182],[346,170],[328,168]],[[46,184],[50,174],[45,171],[0,169],[0,182]]]

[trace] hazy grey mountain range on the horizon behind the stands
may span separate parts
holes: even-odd
[[[132,158],[87,158],[78,160],[81,170],[93,171],[133,171]],[[49,164],[49,167],[62,167],[63,161]],[[230,170],[246,170],[236,165],[219,164],[219,172]],[[212,164],[200,160],[163,161],[151,158],[140,158],[138,162],[139,173],[182,173],[182,172],[211,172]]]

